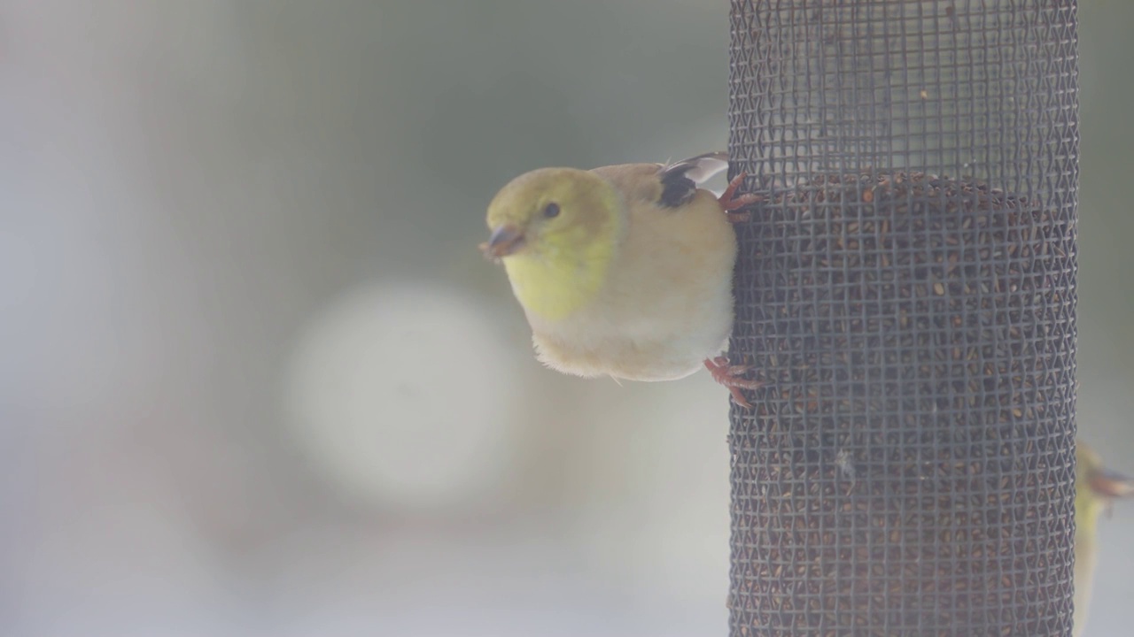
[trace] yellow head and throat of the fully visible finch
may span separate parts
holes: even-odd
[[[489,204],[484,254],[501,260],[521,305],[544,320],[579,309],[607,279],[626,212],[618,190],[586,170],[521,175]]]

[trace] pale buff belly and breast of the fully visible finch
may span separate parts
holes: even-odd
[[[667,381],[719,355],[733,325],[736,239],[716,205],[689,212],[636,224],[608,284],[575,315],[547,323],[528,314],[539,359],[579,376]]]

